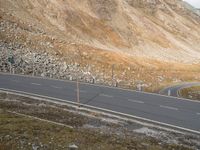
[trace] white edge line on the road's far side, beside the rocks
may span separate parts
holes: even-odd
[[[0,74],[11,75],[11,76],[21,76],[21,77],[27,77],[27,78],[32,78],[32,79],[35,78],[35,79],[45,79],[45,80],[54,80],[54,81],[63,81],[63,82],[76,83],[76,81],[53,79],[53,78],[47,78],[47,77],[38,77],[38,76],[34,76],[33,77],[33,76],[28,76],[28,75],[9,74],[9,73],[4,73],[4,72],[0,72]],[[118,89],[118,90],[136,92],[136,93],[144,93],[144,94],[149,94],[149,95],[154,95],[154,96],[168,97],[168,98],[173,98],[173,99],[178,99],[178,100],[183,100],[183,101],[190,101],[190,102],[200,103],[200,101],[190,100],[190,99],[186,99],[186,98],[173,97],[173,96],[167,96],[167,95],[162,95],[162,94],[158,94],[158,93],[148,93],[148,92],[143,92],[143,91],[136,91],[136,90],[131,90],[131,89],[123,89],[123,88],[119,88],[119,87],[110,87],[110,86],[106,86],[106,85],[90,84],[90,83],[84,83],[84,82],[80,82],[80,83],[83,84],[83,85],[91,85],[91,86],[104,87],[104,88],[106,87],[106,88],[110,88],[110,89]]]

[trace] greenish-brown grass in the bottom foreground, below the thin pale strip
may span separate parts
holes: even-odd
[[[32,150],[39,149],[68,149],[72,143],[78,143],[80,149],[181,149],[187,148],[176,145],[161,147],[153,140],[138,140],[119,138],[115,135],[102,135],[90,130],[69,129],[42,121],[20,117],[6,112],[0,114],[0,149],[1,150]]]

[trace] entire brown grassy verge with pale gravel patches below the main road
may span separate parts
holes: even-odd
[[[9,112],[8,112],[9,111]],[[142,150],[189,150],[184,146],[166,144],[162,141],[128,131],[120,124],[104,122],[95,117],[86,117],[70,112],[67,106],[37,101],[25,97],[0,94],[0,149],[31,150],[68,149],[76,144],[81,150],[88,149],[142,149]],[[11,112],[17,112],[11,113]],[[48,121],[72,125],[68,128]],[[96,128],[84,128],[94,123]],[[102,126],[102,128],[101,128]],[[119,132],[122,130],[121,132]]]

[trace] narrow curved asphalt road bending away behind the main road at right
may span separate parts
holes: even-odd
[[[161,90],[159,93],[162,95],[168,95],[170,94],[170,96],[174,96],[174,97],[179,97],[178,92],[183,89],[183,88],[189,88],[192,86],[200,86],[199,82],[194,82],[194,83],[183,83],[183,84],[179,84],[179,85],[175,85],[175,86],[171,86],[171,87],[167,87],[163,90]],[[170,93],[169,93],[170,90]]]

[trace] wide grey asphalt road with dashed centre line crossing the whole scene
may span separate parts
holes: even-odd
[[[76,102],[76,82],[0,74],[0,88]],[[80,84],[80,102],[200,133],[200,103],[156,94]]]

